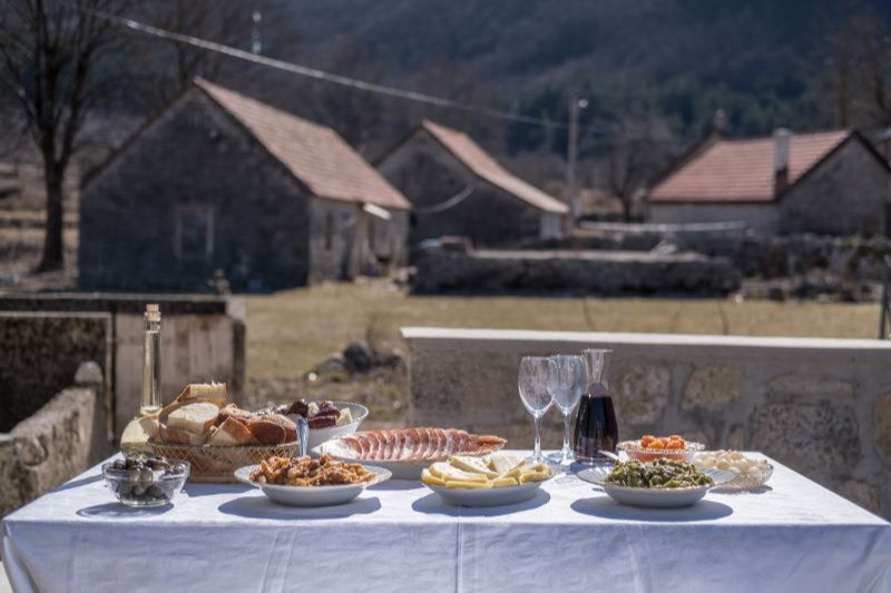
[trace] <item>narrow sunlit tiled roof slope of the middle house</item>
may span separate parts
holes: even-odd
[[[566,214],[569,208],[562,201],[548,196],[522,179],[508,172],[467,134],[424,120],[421,122],[446,149],[463,162],[474,175],[497,186],[540,210]]]

